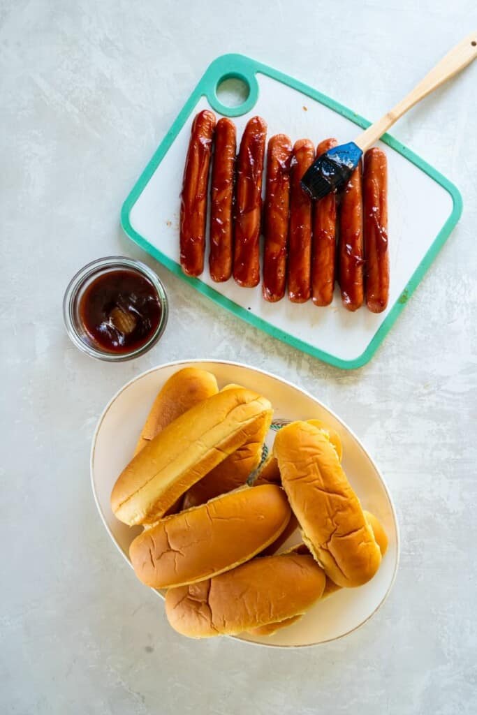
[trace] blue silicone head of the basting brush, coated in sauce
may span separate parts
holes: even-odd
[[[313,199],[323,199],[345,184],[358,166],[363,152],[354,142],[333,147],[305,172],[301,184]]]

